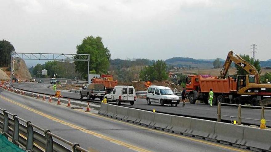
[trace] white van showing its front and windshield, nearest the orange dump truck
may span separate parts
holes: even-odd
[[[180,98],[174,95],[170,88],[164,86],[149,86],[146,99],[149,105],[152,102],[161,103],[162,106],[164,104],[170,104],[171,106],[175,104],[177,107],[180,104]]]

